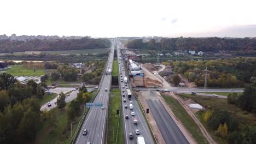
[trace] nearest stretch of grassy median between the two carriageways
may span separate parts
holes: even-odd
[[[123,123],[121,119],[121,107],[120,107],[120,90],[119,89],[111,89],[109,97],[109,107],[108,107],[108,142],[107,143],[115,143],[117,139],[117,143],[124,143],[123,137]],[[119,109],[119,115],[117,115],[117,109]],[[118,123],[118,119],[120,116],[120,120]],[[119,124],[119,126],[118,126]],[[119,128],[118,128],[119,127]],[[118,135],[118,136],[117,136]]]

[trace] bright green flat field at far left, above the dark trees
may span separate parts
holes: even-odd
[[[33,69],[22,68],[22,65],[9,65],[9,67],[13,68],[3,71],[7,71],[8,74],[11,74],[13,76],[40,76],[45,74],[43,69],[37,69],[36,71],[34,71]]]

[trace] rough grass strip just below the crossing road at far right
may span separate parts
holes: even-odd
[[[252,125],[256,125],[256,116],[252,113],[248,113],[246,111],[241,110],[235,105],[228,104],[226,99],[222,98],[213,98],[213,97],[203,97],[199,95],[194,95],[190,97],[197,103],[205,106],[208,109],[220,109],[223,111],[228,111],[232,113],[238,122],[241,124],[247,125],[248,123]]]

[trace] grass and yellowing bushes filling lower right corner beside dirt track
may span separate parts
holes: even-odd
[[[183,99],[196,101],[206,110],[196,113],[197,118],[218,143],[255,143],[256,78],[252,77],[245,92],[231,93],[227,99],[179,94]]]

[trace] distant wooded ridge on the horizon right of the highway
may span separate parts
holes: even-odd
[[[162,38],[160,42],[151,39],[143,42],[142,39],[130,40],[126,44],[128,49],[145,49],[145,50],[195,50],[203,52],[248,52],[255,53],[256,38]]]

